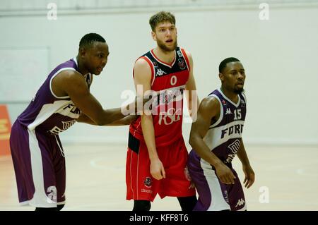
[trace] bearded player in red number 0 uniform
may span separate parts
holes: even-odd
[[[134,211],[148,211],[158,193],[161,198],[177,197],[182,210],[191,211],[196,205],[196,192],[187,170],[182,107],[186,91],[190,115],[191,111],[192,116],[196,114],[192,56],[177,47],[175,16],[162,11],[149,23],[157,47],[136,60],[134,84],[139,96],[150,90],[159,95],[151,114],[144,111],[129,127],[126,199],[134,200]]]

